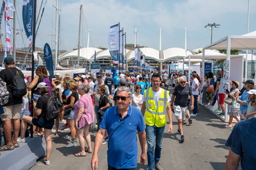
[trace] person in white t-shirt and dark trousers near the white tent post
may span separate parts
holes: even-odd
[[[193,114],[190,114],[190,116],[197,116],[197,97],[199,95],[199,81],[197,80],[197,75],[193,74],[192,75],[192,94],[194,96],[194,109],[193,109]]]

